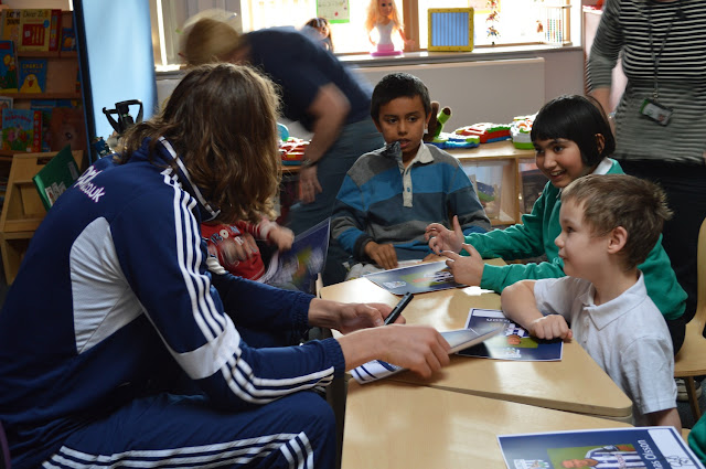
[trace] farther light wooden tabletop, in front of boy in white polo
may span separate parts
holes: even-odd
[[[365,278],[324,287],[321,298],[391,306],[399,299]],[[478,287],[416,295],[403,316],[408,323],[429,324],[446,331],[463,328],[471,307],[500,309],[500,296]],[[564,359],[558,362],[452,356],[451,364],[429,380],[405,372],[385,381],[421,384],[624,422],[630,422],[632,416],[630,398],[575,341],[565,343]]]

